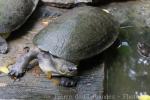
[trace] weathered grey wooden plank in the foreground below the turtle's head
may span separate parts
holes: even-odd
[[[55,79],[48,80],[41,73],[35,77],[31,72],[20,80],[13,82],[7,76],[0,77],[1,99],[29,99],[29,100],[99,100],[103,92],[102,65],[96,66],[82,73],[78,78],[80,81],[74,88],[58,86]]]

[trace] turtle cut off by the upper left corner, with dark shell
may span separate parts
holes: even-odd
[[[21,27],[35,10],[39,0],[0,0],[0,53],[8,51],[6,38]]]

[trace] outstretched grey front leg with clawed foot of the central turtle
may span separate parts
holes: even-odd
[[[29,62],[37,57],[39,51],[29,51],[28,53],[17,59],[16,63],[12,65],[9,71],[9,76],[11,78],[20,78],[25,74],[26,68]]]

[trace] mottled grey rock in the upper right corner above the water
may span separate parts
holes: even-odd
[[[149,0],[111,3],[103,8],[110,11],[123,26],[150,27]]]

